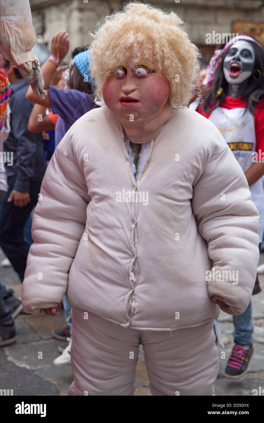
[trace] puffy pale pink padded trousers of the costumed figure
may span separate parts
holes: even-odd
[[[69,395],[134,395],[140,344],[152,395],[214,395],[219,357],[213,320],[172,332],[135,330],[77,308],[72,308],[75,379]]]

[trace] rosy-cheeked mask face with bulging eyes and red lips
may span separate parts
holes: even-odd
[[[140,60],[135,66],[120,63],[103,85],[106,106],[121,124],[155,118],[167,102],[169,92],[158,66],[148,60]]]

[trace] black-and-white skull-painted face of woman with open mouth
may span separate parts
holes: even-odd
[[[255,52],[245,40],[234,42],[223,62],[223,71],[228,84],[241,84],[250,77],[254,69]]]

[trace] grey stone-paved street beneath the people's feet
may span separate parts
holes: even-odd
[[[0,254],[0,261],[4,256]],[[264,263],[261,254],[260,263]],[[21,298],[21,284],[13,269],[0,268],[1,283],[13,288]],[[218,319],[225,349],[218,346],[219,353],[225,352],[220,359],[220,370],[214,384],[217,396],[252,396],[252,390],[264,387],[264,275],[259,277],[262,292],[253,296],[254,354],[249,371],[242,379],[233,381],[223,376],[228,357],[233,347],[232,316],[220,314]],[[33,316],[20,314],[15,320],[17,342],[0,348],[0,388],[13,389],[14,396],[48,395],[66,396],[74,375],[70,365],[56,367],[53,360],[58,357],[57,346],[61,341],[52,337],[51,331],[65,326],[64,311],[61,315]],[[38,352],[43,353],[42,360]],[[221,355],[221,354],[220,354]],[[136,396],[150,396],[149,381],[144,363],[144,353],[140,348],[136,372]]]

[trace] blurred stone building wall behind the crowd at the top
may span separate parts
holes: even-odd
[[[50,45],[54,33],[65,29],[69,33],[70,49],[89,44],[96,24],[114,9],[122,9],[119,0],[30,0],[36,35]],[[172,9],[186,22],[186,30],[207,56],[216,43],[208,43],[208,33],[232,33],[235,20],[264,22],[262,0],[164,0],[149,1],[163,9]],[[264,32],[264,30],[263,30]],[[264,33],[263,33],[264,37]],[[70,59],[70,52],[67,60]]]

